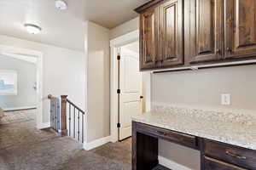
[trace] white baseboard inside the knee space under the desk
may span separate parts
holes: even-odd
[[[172,170],[192,170],[189,167],[185,167],[181,164],[178,164],[175,161],[166,159],[165,157],[162,157],[162,156],[158,156],[158,160],[159,160],[160,165],[168,167]]]

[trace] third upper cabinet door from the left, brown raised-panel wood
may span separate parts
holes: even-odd
[[[223,58],[223,12],[223,0],[190,1],[188,63]]]

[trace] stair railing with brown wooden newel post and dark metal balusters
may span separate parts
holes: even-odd
[[[50,127],[61,136],[72,136],[84,143],[85,112],[67,99],[67,95],[57,98],[49,94],[48,99],[50,99]]]

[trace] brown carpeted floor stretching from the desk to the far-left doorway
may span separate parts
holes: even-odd
[[[131,141],[86,151],[69,137],[58,137],[50,129],[37,130],[35,119],[0,124],[0,170],[20,169],[128,170]]]

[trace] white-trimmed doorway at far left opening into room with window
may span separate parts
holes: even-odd
[[[42,56],[38,51],[0,45],[0,125],[42,125]]]

